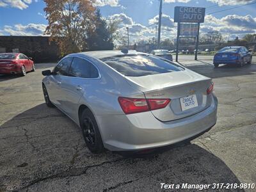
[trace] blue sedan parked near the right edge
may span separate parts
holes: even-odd
[[[218,67],[220,64],[243,67],[244,63],[252,63],[252,52],[242,46],[224,47],[214,55],[213,59],[214,67]]]

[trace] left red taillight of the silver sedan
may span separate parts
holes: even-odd
[[[125,114],[141,113],[165,108],[170,99],[135,99],[118,97],[118,102]]]

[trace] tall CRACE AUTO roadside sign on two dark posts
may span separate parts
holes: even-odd
[[[204,16],[205,16],[205,8],[200,7],[188,7],[188,6],[175,6],[174,8],[174,22],[178,23],[178,29],[177,29],[177,45],[176,45],[176,61],[178,61],[178,54],[179,54],[179,36],[180,36],[180,23],[181,22],[189,22],[189,23],[195,23],[198,24],[197,33],[195,34],[195,31],[193,32],[193,36],[196,36],[196,52],[195,52],[195,60],[197,60],[197,49],[198,49],[198,42],[199,42],[199,28],[200,23],[204,22]],[[188,24],[182,24],[182,29],[186,31],[186,28],[188,28]],[[191,26],[190,26],[191,28]],[[194,30],[195,28],[193,28]],[[189,34],[186,35],[182,31],[183,36],[191,36],[191,31],[189,31]],[[188,32],[188,31],[187,31]]]

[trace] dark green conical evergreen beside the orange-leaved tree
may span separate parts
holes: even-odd
[[[97,9],[95,13],[95,28],[88,33],[88,38],[86,38],[87,46],[84,49],[90,51],[113,49],[114,45],[111,40],[111,33],[106,20],[102,18],[100,10]]]

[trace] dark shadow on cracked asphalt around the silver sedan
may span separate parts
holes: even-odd
[[[93,188],[101,191],[122,182],[124,191],[131,189],[129,185],[133,190],[143,185],[157,191],[161,182],[240,184],[224,161],[195,144],[168,148],[143,158],[122,157],[108,150],[92,154],[79,127],[58,109],[45,104],[6,120],[0,126],[0,135],[0,189],[4,190],[36,186],[37,190],[47,191],[53,179],[58,183],[65,178],[72,186],[80,185],[88,191],[93,180],[104,180]],[[62,189],[69,190],[68,186]]]

